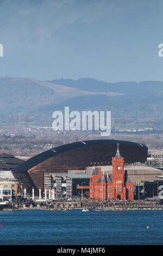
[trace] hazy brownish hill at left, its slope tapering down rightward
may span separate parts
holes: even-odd
[[[0,92],[0,115],[36,113],[40,109],[47,109],[49,105],[62,107],[64,101],[70,103],[71,99],[76,97],[122,95],[112,92],[86,92],[46,81],[19,77],[0,77]],[[51,109],[52,111],[53,109]]]

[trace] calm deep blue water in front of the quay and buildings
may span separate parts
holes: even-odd
[[[163,245],[163,210],[0,211],[1,223],[0,245]]]

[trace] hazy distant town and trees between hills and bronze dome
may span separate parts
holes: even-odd
[[[152,128],[116,128],[104,139],[124,139],[146,144],[148,149],[161,149],[160,135]],[[101,138],[99,131],[54,131],[50,126],[40,125],[1,125],[0,152],[14,155],[33,156],[62,144],[86,139]],[[152,138],[149,140],[149,138]]]

